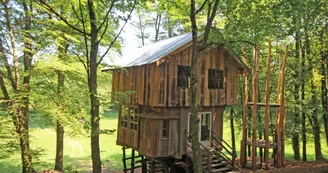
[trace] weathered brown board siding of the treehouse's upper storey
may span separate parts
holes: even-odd
[[[190,89],[178,88],[178,65],[191,66],[191,47],[172,52],[162,60],[126,70],[113,70],[113,100],[153,107],[190,105]],[[227,51],[209,48],[198,60],[199,106],[237,104],[238,70],[226,65]],[[223,71],[223,89],[209,89],[208,70]],[[123,92],[130,91],[128,94]],[[120,94],[118,94],[120,93]]]

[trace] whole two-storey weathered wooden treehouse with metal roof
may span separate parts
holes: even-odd
[[[119,102],[116,142],[123,149],[132,148],[132,157],[138,151],[153,163],[171,158],[175,165],[187,165],[179,162],[186,157],[192,162],[188,141],[191,54],[192,34],[187,33],[141,48],[124,68],[103,69],[112,72],[112,100]],[[247,67],[224,47],[212,45],[199,54],[197,68],[199,142],[206,157],[214,140],[223,145],[224,109],[237,104],[238,74]],[[213,163],[212,158],[208,160]],[[123,161],[124,171],[129,170]]]

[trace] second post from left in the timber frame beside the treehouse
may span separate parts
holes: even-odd
[[[254,69],[252,80],[252,169],[256,168],[256,112],[257,112],[257,99],[258,99],[258,71],[259,71],[259,48],[254,46]]]

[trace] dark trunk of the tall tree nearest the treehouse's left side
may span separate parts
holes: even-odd
[[[100,147],[99,147],[99,99],[97,93],[97,54],[98,54],[98,28],[93,0],[88,0],[88,10],[91,26],[91,50],[90,50],[90,76],[88,86],[91,100],[91,158],[93,173],[101,173]]]

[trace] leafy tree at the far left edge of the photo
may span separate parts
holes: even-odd
[[[30,173],[33,171],[33,168],[29,139],[28,110],[29,84],[31,79],[30,70],[32,68],[32,56],[34,53],[32,47],[33,38],[31,35],[33,5],[31,1],[27,2],[25,0],[23,2],[14,1],[10,4],[6,0],[2,0],[2,5],[6,18],[7,31],[5,32],[9,33],[10,45],[7,44],[6,49],[1,45],[0,52],[6,66],[6,73],[1,72],[0,85],[7,109],[14,123],[15,131],[19,136],[22,172]],[[16,8],[23,8],[23,13],[17,14],[19,12],[16,11]],[[24,19],[19,18],[18,15],[23,15]],[[22,30],[15,26],[13,20],[21,20],[24,23]],[[2,39],[7,42],[6,36],[3,36]],[[2,39],[0,42],[2,42]],[[18,46],[16,41],[21,42],[22,47]],[[20,57],[18,51],[23,53],[23,63],[19,63]],[[11,58],[13,59],[13,66],[8,63]],[[12,70],[14,73],[12,73]],[[5,83],[5,77],[9,80],[10,85]]]

